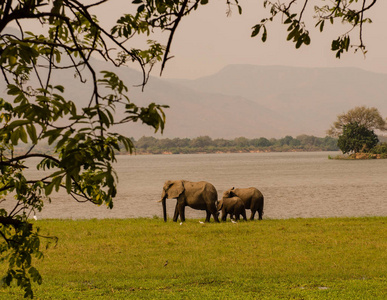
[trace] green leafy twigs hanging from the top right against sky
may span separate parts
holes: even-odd
[[[367,3],[367,0],[333,0],[325,5],[322,3],[315,5],[314,2],[308,0],[300,2],[295,0],[264,0],[263,5],[270,11],[270,16],[253,26],[251,36],[255,37],[260,34],[261,40],[265,42],[268,39],[268,23],[280,16],[283,23],[288,26],[287,40],[291,40],[296,48],[309,45],[311,37],[304,22],[304,15],[311,10],[313,12],[310,12],[310,14],[316,20],[315,27],[318,27],[320,32],[324,31],[327,23],[340,22],[349,25],[348,31],[332,40],[331,50],[336,53],[337,58],[340,58],[344,52],[348,52],[351,47],[354,48],[355,52],[360,50],[365,54],[367,51],[363,42],[363,27],[365,24],[372,22],[366,14],[376,2],[377,0],[372,0],[370,3]],[[312,7],[312,5],[314,6]],[[357,43],[351,40],[353,35],[357,35]]]

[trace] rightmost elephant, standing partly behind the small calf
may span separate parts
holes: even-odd
[[[239,197],[245,204],[246,209],[251,210],[250,220],[254,220],[255,213],[258,211],[259,219],[262,220],[263,216],[263,195],[262,193],[254,188],[231,188],[223,193],[223,197]]]

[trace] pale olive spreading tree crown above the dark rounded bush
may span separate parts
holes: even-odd
[[[337,137],[343,133],[344,126],[350,123],[357,123],[368,130],[387,130],[386,120],[382,118],[377,108],[357,106],[344,114],[338,115],[337,120],[327,131],[327,134]]]

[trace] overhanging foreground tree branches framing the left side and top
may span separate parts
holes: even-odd
[[[128,137],[116,133],[117,125],[140,121],[156,131],[164,128],[165,106],[137,106],[129,97],[127,83],[109,70],[98,72],[93,58],[116,67],[137,64],[143,72],[140,85],[144,86],[155,63],[160,62],[163,70],[171,58],[172,41],[182,18],[207,3],[134,0],[134,13],[123,12],[112,28],[106,28],[91,11],[96,6],[109,9],[108,0],[87,4],[77,0],[0,1],[0,69],[6,83],[6,94],[0,98],[0,202],[4,204],[0,209],[0,254],[9,263],[4,284],[16,280],[25,296],[32,297],[31,281],[42,282],[32,263],[33,256],[43,255],[42,236],[29,219],[53,192],[64,189],[76,201],[113,207],[115,150],[119,145],[133,149]],[[225,3],[242,12],[238,0]],[[303,15],[310,3],[304,0],[300,11],[294,13],[295,3],[264,1],[270,17],[254,26],[252,35],[261,33],[266,41],[267,23],[282,15],[289,26],[288,39],[297,48],[308,45],[311,38]],[[336,19],[351,24],[359,29],[356,49],[365,52],[362,28],[370,21],[365,13],[376,0],[368,3],[336,0],[316,7],[317,25],[322,31],[326,22]],[[150,36],[154,30],[168,35],[165,46],[149,39],[147,48],[136,47],[135,36]],[[348,32],[332,42],[332,50],[340,57],[350,45]],[[90,89],[86,105],[80,105],[81,99],[69,99],[66,91],[71,87],[61,85],[59,77],[69,70]],[[125,112],[122,119],[117,119],[118,110]],[[32,145],[28,150],[15,152],[16,145],[28,142]],[[54,145],[54,155],[36,150],[45,142]],[[32,158],[38,158],[37,168],[45,171],[40,178],[29,178],[25,172]]]

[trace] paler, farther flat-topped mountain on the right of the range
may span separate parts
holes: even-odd
[[[318,136],[355,106],[374,106],[387,115],[387,75],[356,68],[230,65],[212,76],[174,82],[244,97],[286,118],[291,128],[301,128],[299,133]]]

